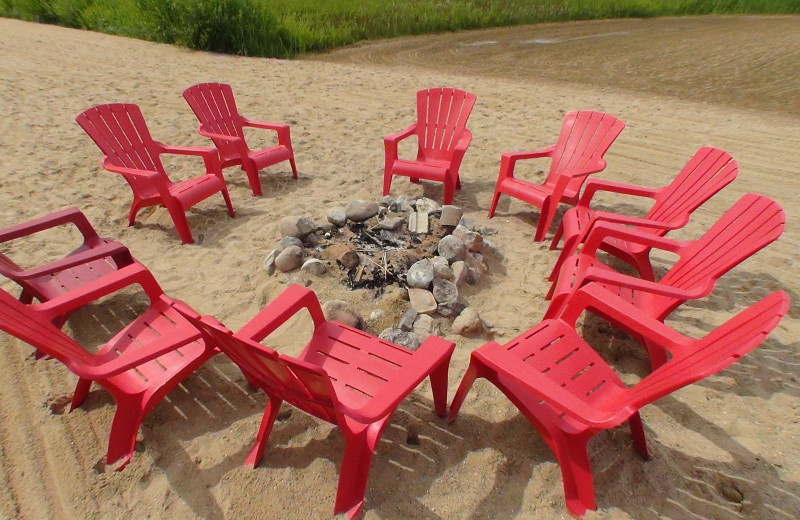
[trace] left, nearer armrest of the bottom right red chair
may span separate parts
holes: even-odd
[[[490,370],[502,374],[504,379],[512,380],[542,401],[587,426],[612,428],[625,422],[636,411],[626,406],[602,410],[596,404],[589,405],[494,341],[473,351],[472,355]],[[604,403],[606,406],[613,404],[616,403]]]

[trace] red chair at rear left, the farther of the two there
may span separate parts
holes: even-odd
[[[247,174],[253,195],[262,194],[258,172],[267,166],[289,161],[292,174],[297,178],[289,125],[251,121],[240,115],[233,99],[233,89],[224,83],[193,85],[183,91],[183,97],[200,120],[197,131],[214,141],[222,167],[240,165]],[[274,130],[278,144],[261,150],[251,150],[244,138],[244,127]]]

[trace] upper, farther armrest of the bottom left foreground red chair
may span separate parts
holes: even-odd
[[[52,300],[35,304],[31,307],[37,313],[42,314],[48,321],[52,321],[58,316],[67,314],[89,302],[96,301],[103,296],[108,296],[131,285],[141,286],[151,302],[164,294],[156,279],[153,278],[152,273],[142,264],[133,263]]]

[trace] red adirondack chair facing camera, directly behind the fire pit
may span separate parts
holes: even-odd
[[[444,203],[453,203],[456,188],[461,188],[458,170],[472,141],[467,119],[475,99],[475,94],[448,87],[417,92],[417,122],[383,138],[384,195],[392,187],[392,176],[403,175],[411,182],[427,179],[444,183]],[[398,143],[412,135],[417,136],[417,158],[400,159]]]

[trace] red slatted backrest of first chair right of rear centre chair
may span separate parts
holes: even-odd
[[[625,123],[603,112],[576,110],[564,116],[545,184],[555,186],[562,175],[594,173],[605,167],[603,155],[625,128]],[[565,190],[577,193],[586,175],[574,177]]]

